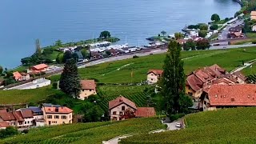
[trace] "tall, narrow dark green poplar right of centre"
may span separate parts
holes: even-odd
[[[181,45],[170,42],[168,53],[163,66],[163,74],[160,82],[162,98],[165,100],[166,114],[182,113],[186,104],[182,103],[185,95],[185,73],[181,58]],[[187,109],[187,108],[186,108]]]

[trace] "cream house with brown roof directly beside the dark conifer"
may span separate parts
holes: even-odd
[[[90,95],[97,94],[96,93],[96,84],[94,80],[81,80],[81,92],[79,94],[79,99],[85,100]]]

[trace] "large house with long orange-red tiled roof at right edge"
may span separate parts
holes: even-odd
[[[256,106],[256,85],[213,85],[201,96],[200,110],[217,110],[238,106]]]

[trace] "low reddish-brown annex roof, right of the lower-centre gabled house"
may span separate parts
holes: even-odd
[[[140,118],[154,117],[155,114],[154,107],[138,107],[138,110],[135,112],[136,117]]]

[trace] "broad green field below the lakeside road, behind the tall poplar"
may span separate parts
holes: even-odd
[[[141,82],[146,80],[146,73],[149,69],[162,69],[165,55],[154,54],[142,58],[106,62],[80,69],[79,74],[82,78],[95,78],[98,82],[105,83]],[[184,59],[186,74],[214,63],[226,70],[234,70],[235,67],[242,65],[242,61],[250,61],[255,58],[255,55],[255,47],[246,48],[246,51],[243,49],[182,51],[182,58],[187,58]],[[131,77],[132,71],[133,77]],[[54,79],[58,78],[59,76]]]

